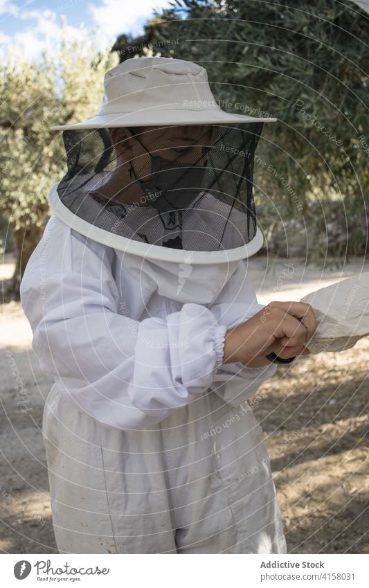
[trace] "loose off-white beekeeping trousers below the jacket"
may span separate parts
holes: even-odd
[[[60,553],[287,553],[262,428],[208,392],[150,430],[104,427],[55,384],[43,434]]]

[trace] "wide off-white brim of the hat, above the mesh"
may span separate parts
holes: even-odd
[[[144,110],[116,114],[100,114],[82,123],[55,125],[51,130],[98,129],[106,127],[154,127],[165,125],[212,125],[237,123],[274,123],[276,118],[257,118],[245,114],[233,114],[222,109],[210,110]]]

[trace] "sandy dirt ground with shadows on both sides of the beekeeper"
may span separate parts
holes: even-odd
[[[12,260],[3,265],[12,273]],[[250,261],[261,303],[299,300],[360,271],[305,266],[301,260]],[[1,322],[0,551],[57,553],[48,497],[42,411],[52,380],[30,350],[19,303]],[[369,553],[369,338],[343,353],[304,356],[253,397],[264,429],[289,553]],[[258,399],[258,402],[256,402]]]

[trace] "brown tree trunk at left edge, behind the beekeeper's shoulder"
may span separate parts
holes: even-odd
[[[21,224],[19,229],[13,229],[17,260],[15,262],[14,274],[12,275],[7,288],[9,299],[19,300],[20,298],[19,286],[21,283],[21,278],[24,274],[24,270],[26,269],[26,265],[31,256],[31,253],[33,252],[33,249],[35,249],[37,243],[42,238],[42,234],[44,233],[44,221],[46,219],[47,213],[47,208],[46,210],[39,212],[39,222],[37,224],[32,224],[27,220],[24,222],[24,224]]]

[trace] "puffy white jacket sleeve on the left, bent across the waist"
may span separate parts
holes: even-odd
[[[204,393],[222,362],[226,327],[197,304],[165,319],[119,314],[112,250],[52,220],[21,282],[42,369],[116,429],[147,429]]]

